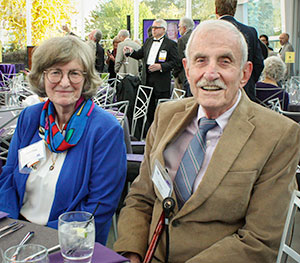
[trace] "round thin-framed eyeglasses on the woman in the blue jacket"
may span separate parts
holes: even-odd
[[[52,84],[59,83],[64,76],[64,73],[60,69],[48,69],[44,71],[44,74]],[[78,84],[85,78],[85,75],[86,72],[82,72],[80,70],[70,70],[68,72],[68,79],[71,83]]]

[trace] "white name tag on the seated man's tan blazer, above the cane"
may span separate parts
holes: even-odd
[[[173,182],[158,160],[155,160],[152,181],[163,199],[171,196],[173,191]]]

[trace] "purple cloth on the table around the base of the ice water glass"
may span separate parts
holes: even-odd
[[[59,252],[51,254],[49,256],[50,263],[61,263],[63,262],[63,257]],[[113,250],[101,245],[100,243],[95,243],[94,254],[92,257],[93,263],[121,263],[129,262],[127,258],[122,257]]]

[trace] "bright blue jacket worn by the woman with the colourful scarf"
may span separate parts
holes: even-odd
[[[38,135],[43,103],[20,114],[0,176],[0,211],[18,218],[28,174],[19,173],[18,149],[41,140]],[[118,206],[126,179],[123,130],[112,114],[95,105],[78,144],[68,150],[55,190],[47,225],[57,228],[58,217],[68,211],[95,215],[96,241],[105,245],[111,218]]]

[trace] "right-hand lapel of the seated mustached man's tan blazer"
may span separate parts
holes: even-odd
[[[220,138],[202,182],[186,205],[179,211],[178,217],[201,206],[216,190],[239,156],[241,149],[255,128],[249,121],[253,116],[248,107],[250,103],[249,99],[243,95]]]

